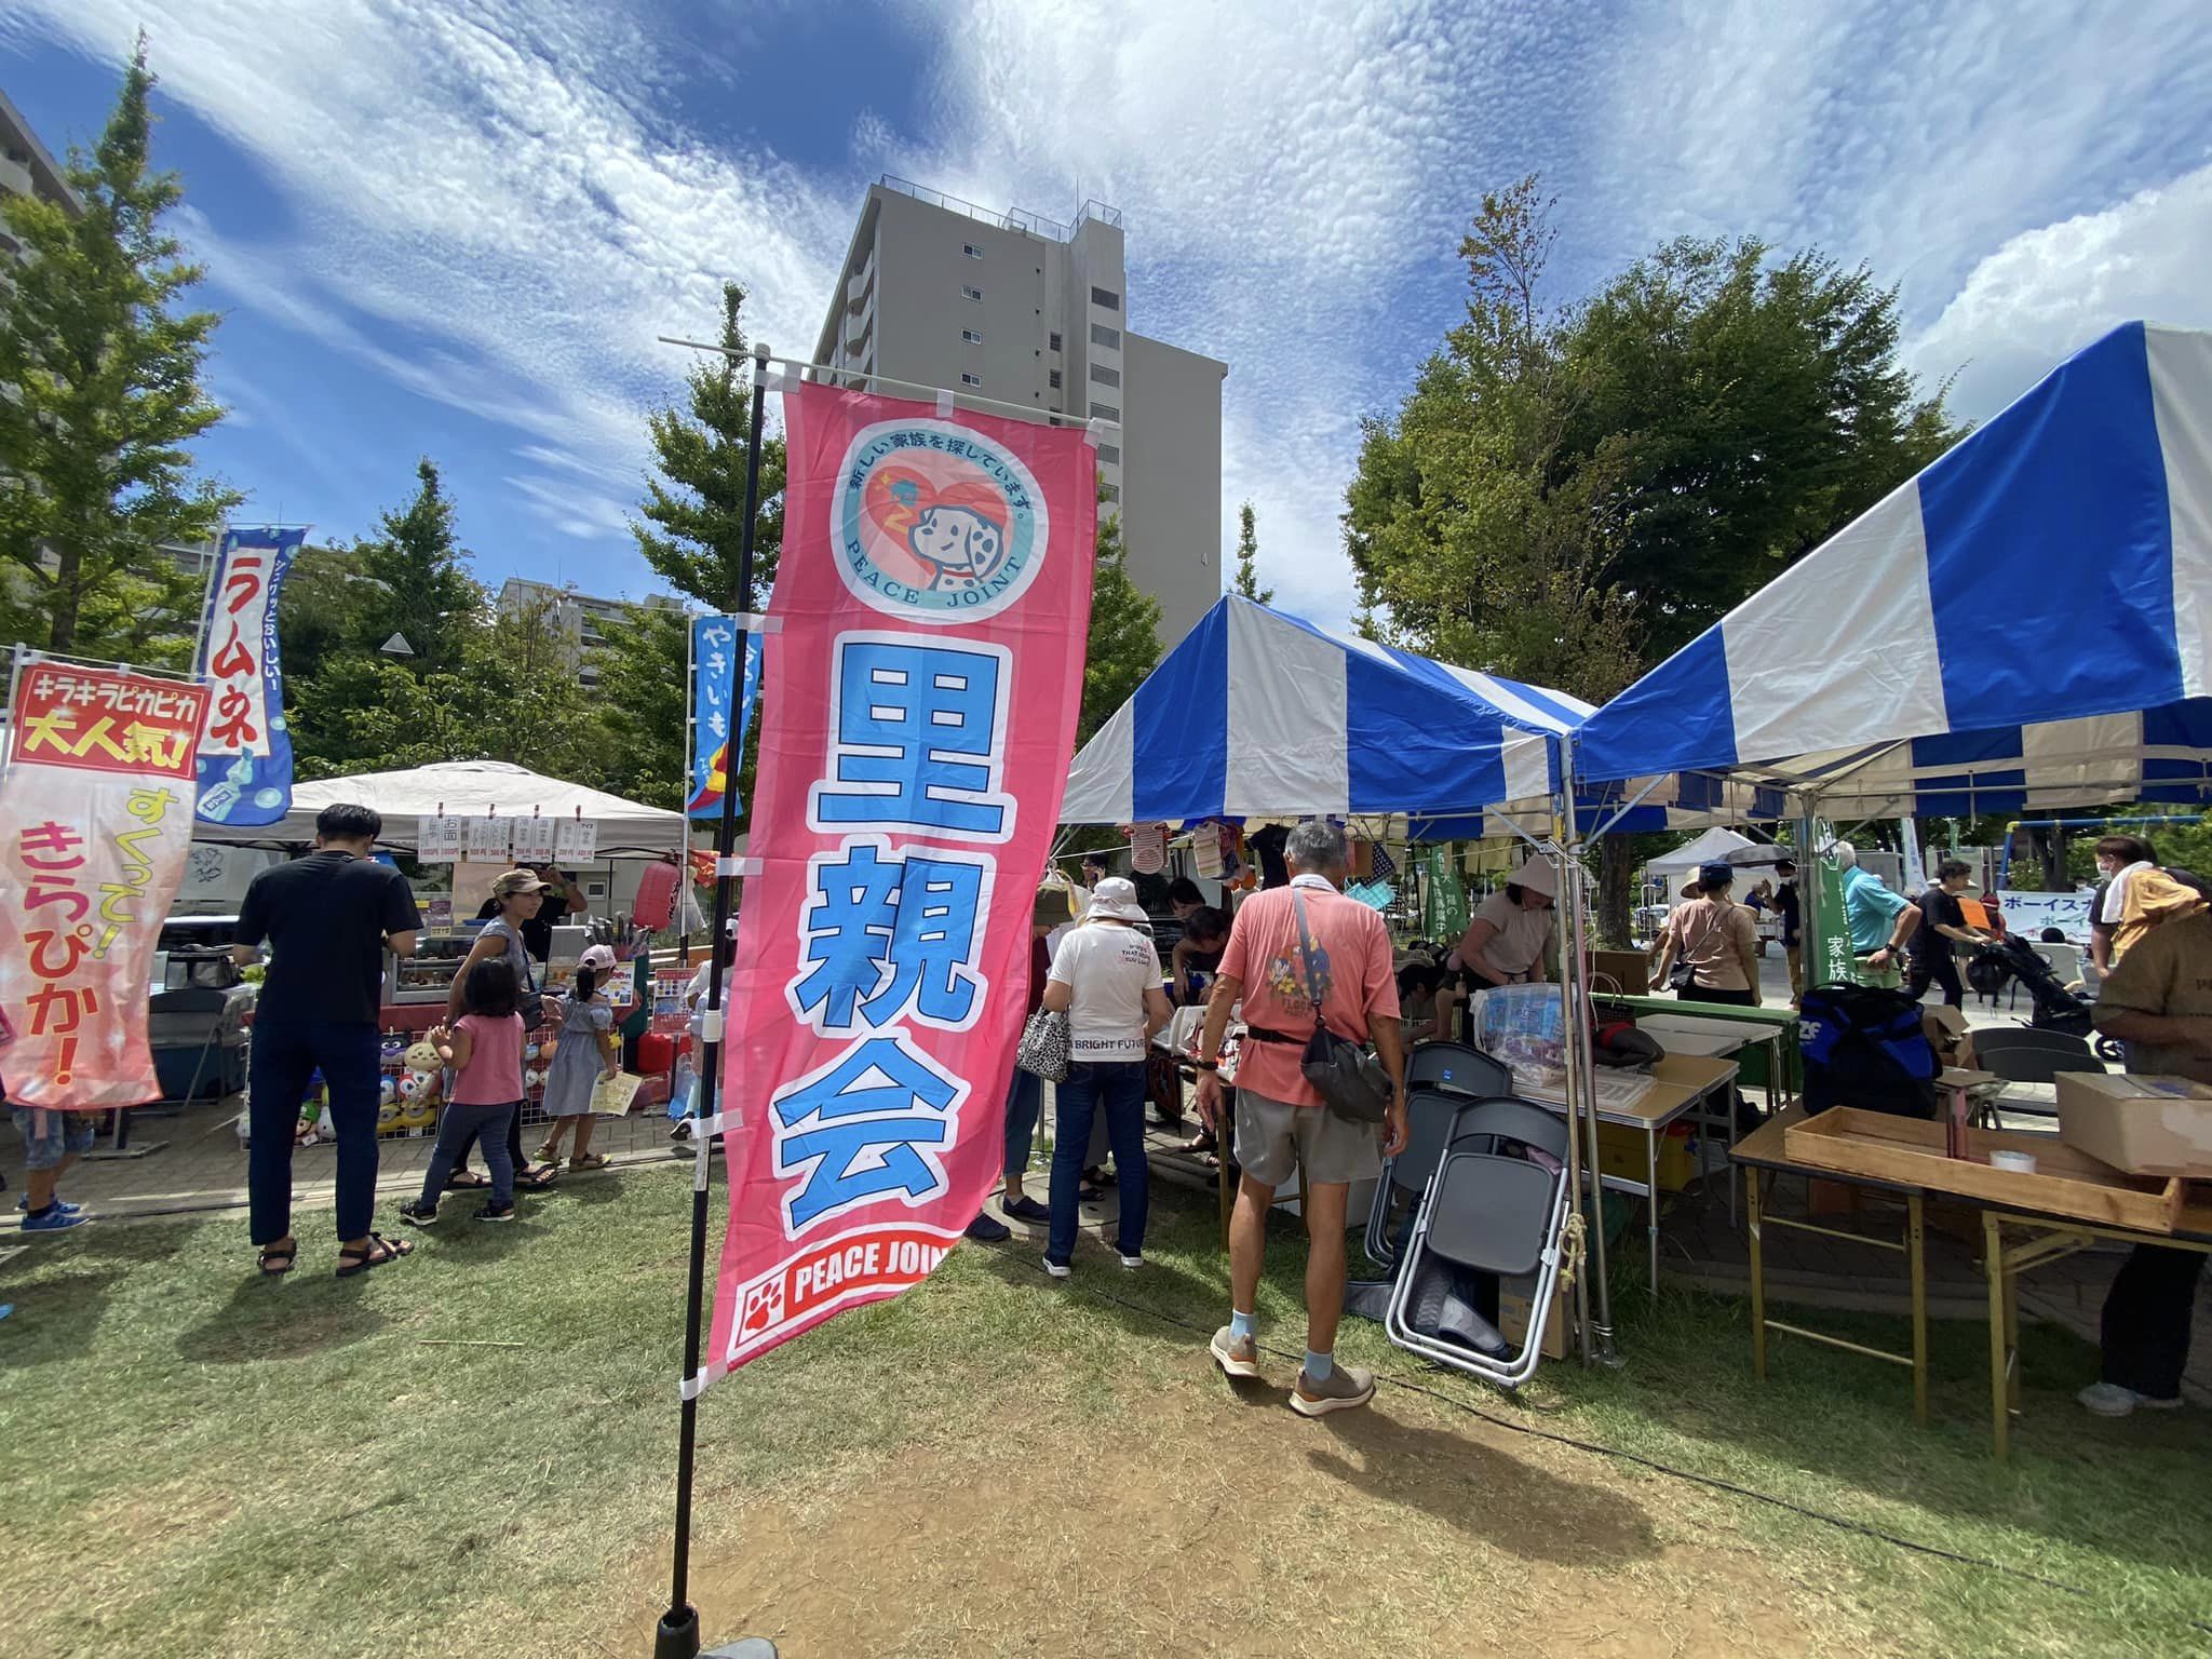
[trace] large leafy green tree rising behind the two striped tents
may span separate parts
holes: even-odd
[[[1387,637],[1601,701],[1958,434],[1865,270],[1683,239],[1555,305],[1551,208],[1533,177],[1484,195],[1467,321],[1367,422],[1345,546]],[[1601,858],[1613,940],[1628,854]]]

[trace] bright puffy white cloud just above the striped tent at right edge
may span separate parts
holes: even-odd
[[[2212,327],[2208,248],[2212,166],[2013,237],[1973,268],[1907,354],[1931,380],[1958,374],[1953,405],[1986,420],[2119,323]]]

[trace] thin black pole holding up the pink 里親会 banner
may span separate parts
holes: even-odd
[[[730,708],[737,708],[745,684],[745,619],[752,617],[752,526],[761,511],[761,425],[768,409],[768,345],[752,347],[752,442],[745,453],[745,526],[737,553],[737,650],[730,653]],[[686,757],[686,779],[690,765]],[[699,1652],[699,1608],[690,1604],[690,1502],[692,1469],[699,1449],[699,1303],[706,1292],[706,1212],[712,1148],[701,1141],[706,1119],[714,1115],[721,1084],[721,1029],[728,1006],[721,987],[723,933],[730,925],[730,847],[737,841],[737,770],[726,768],[721,787],[721,823],[714,834],[714,927],[708,936],[708,1022],[699,1057],[699,1093],[692,1104],[692,1141],[699,1175],[692,1181],[690,1270],[684,1276],[684,1416],[677,1429],[677,1535],[670,1559],[668,1613],[653,1632],[653,1659],[695,1659]],[[774,1648],[750,1641],[737,1648],[748,1655],[774,1655]]]

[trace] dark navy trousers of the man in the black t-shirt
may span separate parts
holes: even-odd
[[[292,1232],[292,1130],[316,1066],[338,1133],[338,1239],[376,1212],[378,1037],[369,1020],[257,1020],[246,1077],[246,1194],[257,1245]]]

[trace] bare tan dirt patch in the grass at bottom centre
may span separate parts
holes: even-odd
[[[805,1498],[701,1504],[708,1639],[768,1635],[785,1659],[1874,1650],[1699,1493],[1389,1387],[1305,1422],[1203,1360],[1186,1380],[1104,1425],[1037,1411]]]

